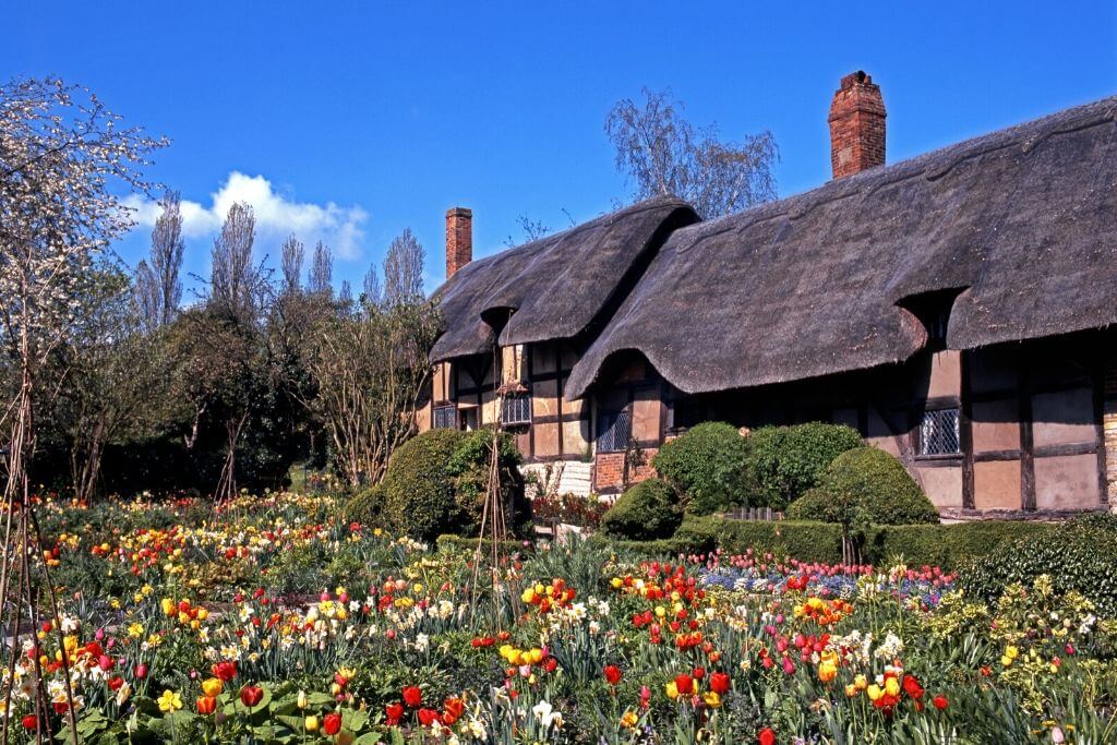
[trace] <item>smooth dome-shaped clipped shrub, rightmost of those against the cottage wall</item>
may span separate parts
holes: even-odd
[[[791,519],[844,525],[937,523],[938,510],[904,464],[878,448],[855,448],[827,467],[819,485],[792,503]]]

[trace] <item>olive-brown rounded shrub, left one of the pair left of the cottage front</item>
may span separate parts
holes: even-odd
[[[458,430],[432,429],[397,448],[381,484],[389,527],[429,542],[462,524],[448,465],[465,438]]]

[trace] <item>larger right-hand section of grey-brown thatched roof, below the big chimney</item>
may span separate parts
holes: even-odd
[[[901,307],[958,290],[947,346],[1117,323],[1117,98],[672,233],[566,394],[642,353],[697,393],[899,362]]]

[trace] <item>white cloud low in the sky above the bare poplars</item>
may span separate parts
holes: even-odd
[[[308,247],[317,241],[333,249],[341,259],[361,256],[363,225],[369,213],[360,207],[341,207],[334,202],[315,204],[296,202],[276,193],[262,175],[250,176],[239,171],[229,174],[221,188],[210,194],[210,204],[182,200],[182,232],[187,238],[216,236],[233,202],[247,202],[256,213],[256,245],[262,251],[278,254],[279,241],[295,233]],[[155,225],[160,207],[156,202],[130,197],[125,203],[135,210],[139,227]]]

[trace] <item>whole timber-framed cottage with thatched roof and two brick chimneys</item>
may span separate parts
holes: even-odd
[[[717,220],[657,198],[475,261],[452,209],[423,426],[500,418],[608,493],[631,443],[700,421],[838,421],[944,514],[1117,504],[1115,120],[1107,98],[886,165],[856,73],[813,191]]]

